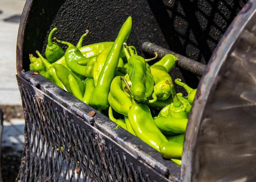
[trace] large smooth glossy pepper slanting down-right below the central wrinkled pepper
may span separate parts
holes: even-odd
[[[168,141],[156,127],[150,110],[145,104],[133,104],[128,111],[128,118],[136,136],[155,150],[160,151],[159,145]]]

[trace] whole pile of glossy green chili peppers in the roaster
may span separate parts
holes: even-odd
[[[30,54],[30,70],[46,77],[84,103],[108,116],[118,126],[161,152],[162,157],[181,164],[184,133],[197,89],[175,79],[188,95],[176,93],[169,72],[177,58],[165,55],[144,59],[127,41],[132,17],[123,23],[114,42],[82,46],[89,31],[76,46],[48,36],[44,58]],[[52,42],[52,39],[55,42]],[[68,45],[66,51],[59,43]],[[117,118],[117,119],[116,119]],[[116,127],[116,128],[117,128]]]

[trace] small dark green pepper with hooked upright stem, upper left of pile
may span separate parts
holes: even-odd
[[[48,36],[48,44],[45,49],[45,57],[50,62],[53,63],[64,56],[64,50],[57,43],[52,42],[52,34],[55,32],[57,28],[52,29]]]

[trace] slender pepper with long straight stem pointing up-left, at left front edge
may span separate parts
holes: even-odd
[[[36,51],[37,55],[40,57],[41,61],[44,63],[46,67],[46,73],[45,78],[49,79],[56,85],[58,85],[60,88],[65,89],[64,85],[61,83],[61,81],[56,76],[55,69],[52,67],[52,64],[48,62],[47,59],[44,59],[44,57],[40,54],[39,51]]]

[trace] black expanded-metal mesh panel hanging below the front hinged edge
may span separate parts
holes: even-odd
[[[25,145],[16,181],[168,181],[17,76]]]

